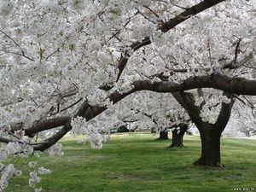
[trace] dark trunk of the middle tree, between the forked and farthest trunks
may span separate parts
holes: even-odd
[[[183,147],[183,136],[188,130],[188,125],[179,124],[179,130],[175,129],[172,131],[172,144],[168,148],[182,148]]]

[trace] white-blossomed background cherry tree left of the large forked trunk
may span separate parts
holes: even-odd
[[[138,128],[137,122],[143,121],[139,127],[149,127],[153,132],[159,132],[158,139],[168,139],[168,131],[172,131],[172,147],[183,146],[183,135],[188,130],[189,115],[175,101],[172,94],[152,94],[143,92],[134,94],[132,101],[126,105],[132,108],[132,115],[125,115]],[[126,119],[127,121],[127,119]],[[153,123],[153,124],[152,124]],[[133,129],[134,130],[134,129]]]

